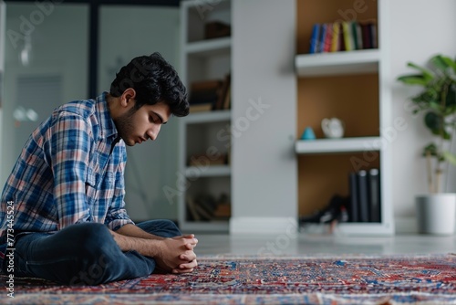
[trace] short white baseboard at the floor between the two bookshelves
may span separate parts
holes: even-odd
[[[298,231],[293,217],[232,217],[230,234],[294,234]]]

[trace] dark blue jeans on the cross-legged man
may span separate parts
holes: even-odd
[[[138,224],[160,237],[181,236],[169,220]],[[55,234],[29,233],[16,240],[17,277],[49,279],[69,285],[98,285],[150,275],[155,260],[136,251],[122,252],[102,224],[67,226]]]

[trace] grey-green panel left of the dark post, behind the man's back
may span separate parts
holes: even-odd
[[[17,100],[17,79],[32,75],[61,76],[61,103],[85,98],[87,94],[88,5],[54,5],[46,12],[35,4],[6,5],[1,189],[28,135],[39,121],[45,120],[43,115],[36,122],[16,124],[13,112],[22,104]],[[32,51],[29,64],[24,66],[19,54],[26,33],[30,34]],[[56,106],[36,103],[35,110],[50,113]]]

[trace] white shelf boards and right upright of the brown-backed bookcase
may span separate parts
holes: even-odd
[[[306,1],[306,0],[302,0]],[[337,3],[339,5],[339,3]],[[387,136],[383,132],[390,125],[390,90],[385,79],[389,79],[388,20],[385,20],[387,1],[377,1],[378,49],[340,51],[334,53],[298,54],[295,56],[297,78],[333,78],[363,74],[378,75],[378,136],[347,137],[341,139],[297,140],[295,153],[298,155],[327,155],[344,153],[375,152],[379,156],[381,220],[379,223],[342,223],[337,226],[337,233],[345,235],[391,235],[394,233],[394,220],[391,206],[390,155]],[[338,6],[337,6],[338,7]],[[320,22],[329,22],[321,20]],[[306,94],[304,92],[303,94]],[[356,89],[352,99],[357,98]],[[350,107],[347,104],[347,107]],[[356,111],[356,110],[354,110]],[[362,115],[362,113],[360,113]],[[347,173],[348,174],[348,173]],[[330,190],[328,190],[330,191]]]

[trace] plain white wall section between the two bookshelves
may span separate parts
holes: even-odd
[[[230,232],[284,232],[297,219],[295,0],[233,0],[232,9]]]

